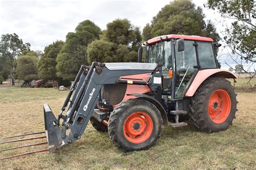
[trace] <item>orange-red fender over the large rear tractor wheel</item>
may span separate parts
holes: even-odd
[[[237,79],[237,76],[235,76],[232,72],[226,69],[204,69],[199,70],[196,77],[194,77],[193,82],[190,85],[190,88],[188,88],[185,96],[191,97],[194,95],[194,93],[197,91],[198,87],[203,83],[208,77],[210,76],[217,76],[217,77],[223,77],[228,79]]]

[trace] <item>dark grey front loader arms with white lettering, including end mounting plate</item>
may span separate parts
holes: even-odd
[[[139,83],[142,85],[142,82],[120,81],[120,77],[144,73],[151,74],[149,82],[143,82],[144,85],[149,86],[154,95],[157,95],[156,91],[159,91],[158,96],[160,96],[161,90],[159,90],[159,87],[161,87],[161,84],[159,84],[159,81],[153,81],[157,79],[156,77],[161,77],[161,67],[156,63],[93,62],[90,67],[81,66],[58,118],[55,118],[49,105],[44,104],[45,131],[50,152],[54,152],[56,148],[73,143],[81,138],[99,100],[100,90],[104,84]],[[70,100],[73,91],[75,93],[72,100]],[[63,115],[68,104],[68,111]],[[69,134],[67,133],[68,129],[70,129]]]

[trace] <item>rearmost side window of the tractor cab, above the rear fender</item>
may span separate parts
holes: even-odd
[[[201,68],[217,68],[211,42],[197,41]]]

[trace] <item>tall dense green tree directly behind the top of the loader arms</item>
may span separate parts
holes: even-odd
[[[75,32],[66,35],[66,42],[57,56],[57,76],[65,80],[75,79],[82,64],[87,64],[86,49],[93,40],[99,38],[100,28],[90,20],[84,20]]]

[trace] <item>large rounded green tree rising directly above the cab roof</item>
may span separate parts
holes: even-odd
[[[165,34],[207,36],[219,41],[213,24],[205,24],[203,10],[188,0],[173,1],[162,8],[143,29],[144,40]]]

